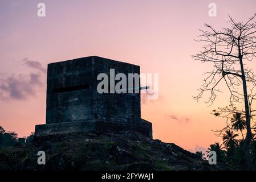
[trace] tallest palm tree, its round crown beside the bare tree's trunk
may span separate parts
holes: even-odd
[[[232,118],[231,118],[231,123],[233,128],[236,130],[236,131],[241,131],[241,134],[242,134],[242,137],[243,137],[243,130],[245,129],[246,127],[246,120],[245,120],[245,116],[242,115],[242,113],[235,113],[233,114]],[[243,137],[243,139],[245,139]]]

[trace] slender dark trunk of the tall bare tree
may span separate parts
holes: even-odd
[[[249,101],[248,101],[248,95],[247,95],[247,85],[246,85],[246,78],[245,78],[245,71],[243,69],[243,60],[241,56],[241,50],[239,49],[239,62],[241,66],[241,73],[242,73],[242,82],[243,82],[243,96],[245,100],[245,117],[246,117],[246,137],[243,142],[243,150],[245,152],[245,158],[247,167],[252,170],[253,169],[253,163],[251,162],[250,157],[250,142],[253,135],[251,134],[251,117],[250,117],[250,111],[249,111]]]

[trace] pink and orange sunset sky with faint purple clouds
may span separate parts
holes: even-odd
[[[38,3],[46,16],[38,17]],[[216,3],[217,16],[208,15]],[[186,150],[221,142],[211,130],[225,119],[210,112],[228,105],[224,94],[208,107],[193,99],[209,64],[194,61],[204,23],[228,27],[228,14],[247,20],[256,1],[12,1],[0,0],[0,126],[25,137],[45,123],[48,63],[91,55],[140,65],[159,73],[159,98],[141,103],[141,117],[153,124],[153,138]],[[255,64],[256,65],[256,64]]]

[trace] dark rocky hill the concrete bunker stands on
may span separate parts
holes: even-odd
[[[38,165],[38,151],[46,165]],[[126,131],[34,138],[0,148],[0,170],[226,170],[176,146]]]

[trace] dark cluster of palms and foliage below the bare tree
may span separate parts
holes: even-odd
[[[214,111],[214,115],[219,116],[219,113]],[[218,134],[222,138],[223,143],[211,144],[206,154],[196,152],[203,159],[208,159],[210,151],[215,151],[217,155],[217,163],[224,163],[231,167],[246,168],[246,156],[244,150],[246,121],[242,113],[234,113],[229,118],[230,125],[222,129]],[[250,158],[253,169],[256,169],[256,130],[253,130],[253,138],[249,145]]]

